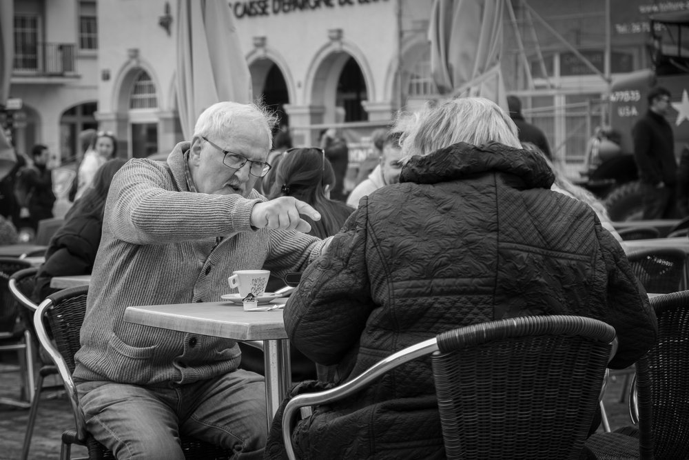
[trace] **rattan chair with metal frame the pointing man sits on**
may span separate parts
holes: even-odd
[[[62,434],[61,460],[70,459],[72,444],[86,446],[89,459],[114,459],[110,450],[96,441],[86,429],[83,413],[79,408],[76,387],[72,380],[74,354],[79,350],[79,331],[86,312],[88,286],[79,286],[55,292],[39,305],[34,314],[34,326],[41,346],[50,354],[63,379],[76,429]],[[49,332],[50,331],[50,332]],[[224,450],[196,439],[182,438],[182,450],[186,459],[230,459],[233,450]]]

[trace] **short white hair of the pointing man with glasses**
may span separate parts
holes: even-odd
[[[232,130],[234,120],[241,119],[249,123],[256,123],[261,127],[265,139],[268,141],[268,149],[273,147],[273,127],[276,126],[278,117],[269,112],[267,107],[261,103],[242,104],[238,102],[225,101],[214,103],[204,110],[196,120],[194,126],[194,137],[209,136],[209,134],[223,134]]]

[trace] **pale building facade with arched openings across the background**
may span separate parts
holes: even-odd
[[[226,3],[254,97],[278,111],[298,146],[316,144],[335,126],[356,163],[370,133],[398,110],[447,97],[431,78],[433,0]],[[606,121],[601,101],[610,81],[650,65],[648,14],[686,8],[651,0],[506,1],[506,88],[522,98],[555,154],[576,165]],[[18,149],[46,143],[68,161],[77,154],[76,133],[97,125],[116,134],[123,156],[171,150],[182,140],[177,16],[169,0],[14,0]]]

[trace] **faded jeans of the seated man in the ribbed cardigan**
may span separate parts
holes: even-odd
[[[183,460],[181,434],[232,449],[236,459],[263,457],[265,383],[254,372],[169,388],[85,381],[77,391],[89,432],[118,459]]]

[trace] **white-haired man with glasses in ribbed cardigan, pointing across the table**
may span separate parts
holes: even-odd
[[[253,189],[269,169],[273,119],[217,103],[167,163],[132,159],[108,194],[76,354],[88,429],[118,459],[183,459],[181,434],[259,458],[263,377],[237,368],[229,339],[123,321],[127,306],[220,300],[234,270],[303,270],[325,243],[300,218],[320,215]]]

